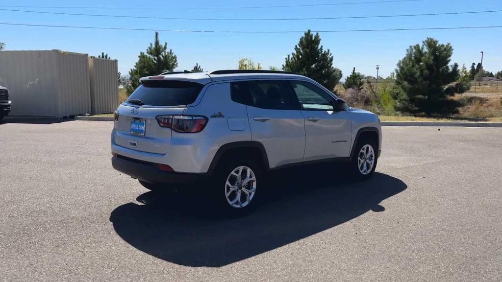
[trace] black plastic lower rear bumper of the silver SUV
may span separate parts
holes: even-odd
[[[150,183],[194,183],[206,177],[206,174],[165,172],[157,164],[121,156],[112,157],[111,165],[123,174]]]

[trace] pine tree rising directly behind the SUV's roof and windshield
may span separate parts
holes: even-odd
[[[286,58],[283,69],[308,76],[333,91],[342,78],[342,72],[333,67],[333,55],[329,49],[324,51],[320,44],[319,34],[314,36],[308,30],[295,46],[295,53]]]

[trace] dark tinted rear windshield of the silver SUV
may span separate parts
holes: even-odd
[[[195,82],[149,80],[144,81],[126,102],[141,100],[142,105],[148,106],[184,106],[195,102],[203,87]]]

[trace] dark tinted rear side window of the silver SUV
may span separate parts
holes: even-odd
[[[234,102],[263,109],[298,109],[291,101],[288,85],[280,80],[239,81],[231,84]]]

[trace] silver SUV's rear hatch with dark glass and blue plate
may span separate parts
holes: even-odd
[[[172,129],[161,127],[160,115],[181,115],[204,85],[177,80],[146,80],[117,109],[115,144],[131,150],[166,154]]]

